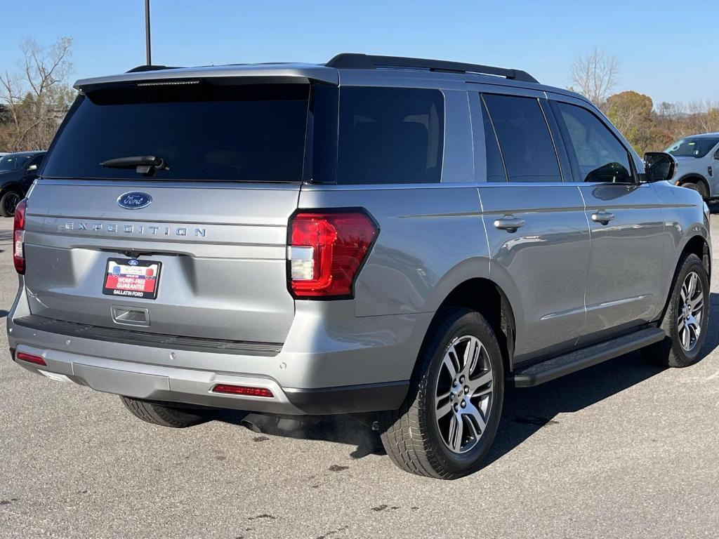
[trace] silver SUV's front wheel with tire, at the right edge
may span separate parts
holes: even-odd
[[[692,275],[696,276],[693,286]],[[691,318],[687,318],[687,313]],[[642,353],[647,359],[667,367],[689,367],[695,364],[701,359],[702,346],[707,338],[708,315],[707,270],[696,254],[689,254],[679,262],[667,310],[661,318],[660,327],[667,333],[667,337],[664,341],[647,346]]]

